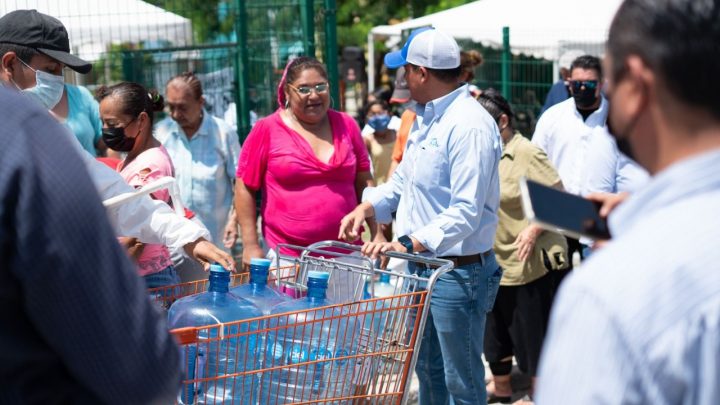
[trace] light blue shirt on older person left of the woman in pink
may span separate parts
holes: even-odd
[[[202,124],[190,139],[169,117],[157,123],[155,137],[165,146],[175,166],[183,203],[208,228],[213,242],[221,246],[240,154],[235,131],[204,111]]]

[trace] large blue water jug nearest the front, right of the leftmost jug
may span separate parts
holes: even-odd
[[[352,394],[355,360],[343,357],[356,353],[354,335],[360,325],[339,308],[319,309],[333,304],[326,298],[328,277],[328,273],[310,271],[307,296],[273,308],[272,314],[286,315],[269,320],[264,367],[283,367],[263,374],[260,403],[285,404]],[[320,362],[293,366],[317,360]]]

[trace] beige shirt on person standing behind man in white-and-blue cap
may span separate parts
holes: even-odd
[[[521,262],[517,247],[513,245],[518,234],[529,222],[525,218],[520,199],[520,177],[526,177],[549,186],[561,184],[557,171],[540,148],[520,133],[515,133],[504,146],[499,164],[500,208],[498,229],[495,234],[495,255],[503,268],[500,285],[523,285],[536,280],[551,269],[568,265],[567,243],[562,235],[545,231],[538,236],[530,258]],[[545,265],[543,256],[550,263]]]

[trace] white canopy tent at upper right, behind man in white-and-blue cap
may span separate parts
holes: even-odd
[[[376,40],[400,43],[403,31],[433,26],[455,38],[501,47],[503,27],[510,28],[510,49],[557,60],[563,49],[601,53],[615,12],[622,0],[480,0],[395,25],[374,27],[368,34],[369,60],[375,60]],[[589,49],[591,48],[591,49]],[[375,67],[368,66],[372,91]]]

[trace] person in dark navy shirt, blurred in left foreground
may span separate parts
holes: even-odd
[[[0,403],[172,403],[179,349],[64,129],[0,86]]]

